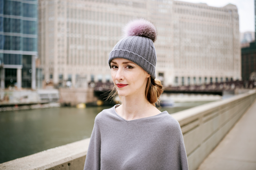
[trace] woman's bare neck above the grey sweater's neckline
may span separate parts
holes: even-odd
[[[122,97],[122,105],[116,108],[116,112],[128,121],[161,113],[149,103],[144,94],[136,97]]]

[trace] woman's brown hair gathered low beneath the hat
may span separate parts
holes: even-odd
[[[157,104],[159,106],[159,97],[163,93],[163,85],[161,84],[160,80],[154,80],[151,77],[148,78],[146,89],[145,89],[145,96],[150,104],[156,106]],[[106,100],[114,98],[118,95],[115,86],[110,91],[108,97]],[[121,99],[121,98],[120,98]]]

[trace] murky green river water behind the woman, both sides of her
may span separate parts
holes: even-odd
[[[161,111],[172,114],[202,104],[181,103],[177,107],[163,107]],[[0,112],[0,164],[90,138],[95,116],[109,107],[59,107]]]

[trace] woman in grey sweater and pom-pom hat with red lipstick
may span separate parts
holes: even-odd
[[[134,20],[125,35],[108,60],[122,104],[96,116],[84,169],[188,169],[179,123],[155,107],[163,92],[155,80],[156,28]]]

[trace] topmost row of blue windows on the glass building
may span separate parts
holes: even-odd
[[[0,1],[0,14],[36,18],[37,5],[26,4],[17,1],[2,0]]]

